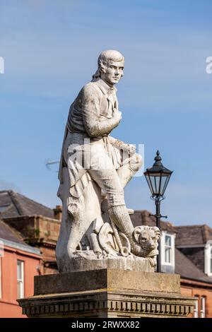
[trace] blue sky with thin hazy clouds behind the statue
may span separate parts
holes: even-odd
[[[212,227],[210,0],[19,0],[0,2],[0,189],[54,207],[69,105],[90,81],[98,55],[125,56],[117,85],[122,122],[113,136],[160,150],[174,170],[162,211],[175,225]],[[127,206],[154,211],[144,177],[126,187]]]

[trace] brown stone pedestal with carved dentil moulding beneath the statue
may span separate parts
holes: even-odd
[[[182,317],[194,308],[179,275],[113,269],[36,276],[35,295],[18,302],[28,317]]]

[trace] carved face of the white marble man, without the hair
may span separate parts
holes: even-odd
[[[122,61],[109,61],[106,66],[105,73],[102,72],[102,79],[110,85],[117,84],[119,79],[124,75],[124,62]]]

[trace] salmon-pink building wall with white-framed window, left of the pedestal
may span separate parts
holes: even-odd
[[[24,318],[16,301],[33,295],[34,275],[40,274],[40,251],[0,239],[0,318]]]

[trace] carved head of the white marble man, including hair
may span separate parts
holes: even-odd
[[[98,70],[93,75],[93,81],[102,78],[109,85],[117,84],[124,75],[124,57],[114,50],[103,51],[98,57]]]

